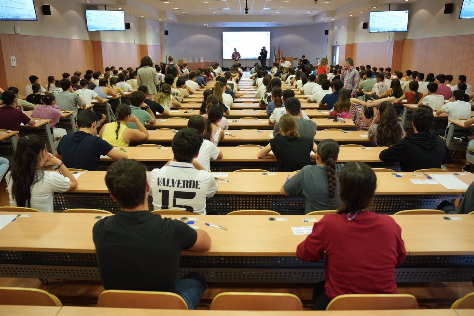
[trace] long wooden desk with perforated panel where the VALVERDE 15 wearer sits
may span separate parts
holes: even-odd
[[[52,171],[56,172],[56,171]],[[217,193],[207,199],[206,210],[222,214],[236,210],[273,210],[281,214],[302,214],[305,208],[304,196],[282,196],[280,188],[288,172],[230,172],[219,175],[229,180],[219,181]],[[444,200],[459,199],[465,189],[447,190],[442,184],[413,184],[410,179],[423,179],[421,173],[376,172],[377,189],[372,209],[378,212],[394,213],[411,209],[436,209]],[[443,173],[446,174],[446,173]],[[465,184],[474,181],[471,173],[451,173]],[[82,172],[78,187],[71,192],[55,193],[54,209],[96,208],[118,211],[119,207],[110,196],[104,182],[105,171]],[[251,185],[249,185],[251,184]],[[152,198],[149,209],[153,210]]]

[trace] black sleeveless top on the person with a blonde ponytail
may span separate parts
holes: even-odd
[[[313,144],[313,140],[305,136],[291,138],[278,135],[270,140],[270,147],[276,157],[278,171],[292,172],[309,165]]]

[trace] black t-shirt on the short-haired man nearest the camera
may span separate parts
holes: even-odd
[[[181,251],[196,243],[194,229],[150,211],[119,211],[92,229],[105,290],[175,292]]]

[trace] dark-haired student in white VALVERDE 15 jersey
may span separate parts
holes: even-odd
[[[173,160],[148,175],[155,210],[177,209],[206,215],[206,197],[214,196],[219,186],[212,174],[193,167],[202,142],[201,133],[194,128],[183,128],[174,135]]]

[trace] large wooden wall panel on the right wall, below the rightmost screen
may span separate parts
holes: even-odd
[[[417,70],[425,76],[432,72],[454,76],[465,75],[474,84],[474,35],[406,39],[403,44],[401,70]]]

